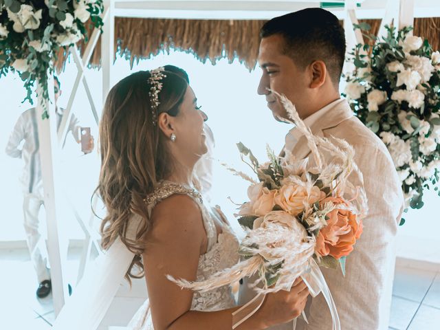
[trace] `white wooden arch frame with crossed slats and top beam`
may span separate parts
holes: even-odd
[[[137,17],[137,18],[175,18],[175,19],[270,19],[287,12],[300,10],[307,7],[319,7],[318,0],[311,1],[264,1],[264,0],[104,0],[104,33],[101,42],[101,67],[102,67],[102,100],[107,97],[112,80],[112,65],[114,61],[114,18],[115,17]],[[331,0],[333,3],[340,3],[336,8],[327,8],[331,10],[339,19],[346,21],[347,49],[362,43],[362,36],[354,32],[352,24],[357,23],[358,19],[383,19],[380,33],[384,33],[384,24],[391,21],[395,25],[402,27],[412,25],[414,17],[440,17],[440,5],[438,0]],[[252,9],[250,9],[252,8]],[[398,22],[398,23],[397,23]],[[58,184],[58,150],[59,146],[64,144],[67,131],[67,123],[70,120],[72,104],[74,103],[76,92],[80,83],[83,83],[87,98],[91,105],[91,111],[98,122],[98,114],[94,98],[90,93],[87,77],[85,76],[85,67],[87,67],[91,54],[96,47],[99,32],[95,30],[91,35],[90,41],[83,55],[80,57],[78,49],[71,47],[72,56],[78,69],[76,81],[72,95],[67,105],[67,113],[61,123],[61,129],[57,135],[56,123],[54,122],[54,109],[50,107],[50,120],[39,120],[39,138],[41,141],[41,163],[43,186],[45,190],[45,207],[47,213],[47,236],[48,252],[50,263],[52,265],[52,285],[54,296],[55,314],[63,307],[65,301],[65,288],[63,285],[63,263],[61,258],[61,245],[59,242],[56,216],[60,214],[58,203],[58,194],[61,187]],[[51,80],[51,85],[53,81]],[[49,89],[53,91],[53,89]],[[53,98],[53,95],[52,95]],[[41,104],[41,102],[39,102]],[[104,104],[104,102],[102,102]],[[40,113],[42,108],[39,107]],[[58,142],[58,143],[56,143]],[[77,214],[76,214],[77,215]],[[85,263],[89,257],[91,244],[97,244],[98,238],[91,232],[89,223],[85,223],[77,215],[81,227],[86,233],[85,254],[83,255],[82,266],[78,278],[80,278]],[[88,236],[87,236],[88,235]]]

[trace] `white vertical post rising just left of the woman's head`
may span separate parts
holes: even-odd
[[[111,67],[115,57],[115,0],[104,0],[104,10],[107,8],[107,22],[104,23],[103,34],[101,34],[102,104],[110,91]]]

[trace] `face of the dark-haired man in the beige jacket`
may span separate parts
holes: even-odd
[[[296,106],[301,116],[301,111],[307,107],[308,79],[306,69],[298,67],[294,60],[285,55],[283,47],[284,38],[280,34],[274,34],[261,39],[259,50],[259,66],[263,70],[258,94],[265,95],[267,107],[272,111],[274,118],[283,121],[287,113],[278,102],[276,96],[268,89],[285,94]]]

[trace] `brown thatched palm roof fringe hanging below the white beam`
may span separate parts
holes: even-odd
[[[377,34],[379,19],[360,20],[369,23]],[[131,63],[150,58],[161,51],[179,49],[195,54],[203,63],[215,63],[226,57],[238,58],[248,69],[256,65],[259,50],[259,29],[265,21],[200,20],[200,19],[132,19],[115,18],[115,53]],[[414,34],[440,49],[440,18],[415,19]],[[83,45],[80,48],[84,49]],[[57,63],[63,67],[67,54]],[[100,64],[100,41],[91,57],[91,65]]]

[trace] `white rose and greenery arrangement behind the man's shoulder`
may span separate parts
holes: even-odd
[[[368,31],[362,23],[355,28]],[[402,181],[406,208],[423,206],[423,189],[438,190],[440,52],[428,41],[387,27],[373,45],[357,45],[345,96],[355,115],[388,147]],[[368,69],[368,70],[367,70]],[[440,195],[440,194],[439,194]]]

